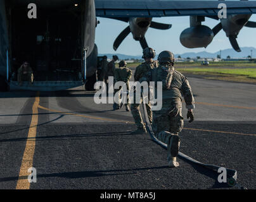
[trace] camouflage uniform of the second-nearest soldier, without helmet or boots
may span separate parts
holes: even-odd
[[[153,62],[143,62],[141,65],[139,65],[136,68],[136,71],[134,73],[134,81],[151,81],[151,69],[155,69],[158,67],[158,62],[153,61]],[[134,118],[134,122],[138,129],[145,128],[143,119],[141,117],[141,112],[139,110],[139,105],[136,104],[136,94],[134,92],[134,102],[131,104],[131,112],[132,112],[132,117]],[[143,99],[141,98],[141,102]],[[140,102],[140,103],[141,103]],[[152,122],[152,111],[151,111],[151,106],[150,103],[146,104],[146,110],[148,112],[148,119],[150,122]]]

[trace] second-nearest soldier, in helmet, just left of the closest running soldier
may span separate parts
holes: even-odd
[[[140,83],[143,81],[151,81],[151,69],[155,69],[158,67],[158,62],[153,61],[153,58],[155,57],[155,50],[147,47],[143,50],[143,58],[145,62],[143,62],[141,65],[139,65],[136,68],[136,71],[134,73],[134,81],[139,81]],[[136,104],[136,94],[134,92],[134,102],[131,104],[131,111],[132,111],[132,117],[134,118],[134,122],[137,126],[137,130],[133,132],[133,134],[136,133],[146,133],[146,127],[144,126],[143,119],[141,117],[141,112],[139,110],[139,105]],[[141,98],[142,102],[142,98]],[[140,102],[140,103],[141,103]],[[152,111],[150,103],[146,104],[146,110],[148,112],[148,119],[150,122],[152,122]]]

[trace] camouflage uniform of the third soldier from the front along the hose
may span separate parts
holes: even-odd
[[[117,81],[124,81],[126,83],[126,87],[127,87],[127,103],[125,104],[125,106],[127,107],[127,105],[130,105],[130,101],[129,101],[129,91],[130,91],[130,84],[129,84],[129,80],[132,77],[132,71],[129,68],[126,68],[124,66],[120,67],[120,68],[116,68],[114,71],[114,80],[115,82]],[[120,90],[119,89],[115,89],[115,93],[118,92],[118,98],[120,100]],[[118,103],[119,103],[118,100]]]

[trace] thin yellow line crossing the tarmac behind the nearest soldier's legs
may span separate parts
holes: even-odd
[[[44,109],[44,110],[48,110],[50,112],[58,112],[60,114],[67,114],[67,115],[71,115],[71,116],[86,117],[86,118],[89,118],[89,119],[98,119],[98,120],[101,120],[101,121],[112,121],[112,122],[114,121],[114,122],[124,122],[124,123],[128,123],[128,124],[134,124],[134,122],[131,122],[131,121],[120,121],[120,120],[117,120],[117,119],[108,119],[108,118],[101,118],[101,117],[84,116],[82,114],[61,112],[61,111],[58,111],[58,110],[48,109],[46,107],[42,107],[41,105],[39,105],[39,108]],[[256,134],[235,133],[235,132],[227,132],[227,131],[214,131],[214,130],[208,130],[208,129],[196,129],[196,128],[183,128],[183,129],[192,130],[192,131],[205,131],[205,132],[213,132],[213,133],[240,134],[240,135],[256,136]]]

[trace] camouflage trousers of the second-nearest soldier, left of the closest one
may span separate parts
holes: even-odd
[[[135,103],[135,98],[136,98],[136,96],[134,95],[134,103],[131,104],[132,117],[133,117],[134,122],[138,128],[144,128],[143,119],[141,117],[141,111],[139,109],[141,106],[141,103],[143,102],[143,98],[141,97],[140,104]],[[146,111],[148,113],[148,119],[150,120],[150,123],[152,123],[152,111],[151,111],[150,103],[146,104]]]

